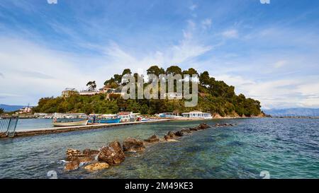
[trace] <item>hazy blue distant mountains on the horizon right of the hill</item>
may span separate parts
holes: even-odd
[[[267,115],[272,116],[306,116],[306,117],[318,117],[319,109],[313,108],[287,108],[287,109],[270,109],[263,110]]]

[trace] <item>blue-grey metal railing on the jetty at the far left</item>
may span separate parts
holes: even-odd
[[[0,136],[13,137],[16,134],[17,116],[0,117]]]

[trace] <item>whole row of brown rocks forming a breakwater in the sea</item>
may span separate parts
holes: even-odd
[[[216,124],[214,127],[232,127],[233,124]],[[197,127],[181,129],[179,131],[169,131],[163,138],[156,135],[150,136],[148,139],[140,140],[128,137],[121,144],[119,141],[113,141],[108,146],[103,146],[99,150],[84,149],[67,149],[65,171],[77,170],[84,166],[85,170],[94,172],[109,168],[112,165],[119,165],[125,160],[128,153],[141,153],[145,151],[147,146],[157,143],[174,142],[181,136],[186,136],[194,131],[201,131],[211,128],[206,123],[199,124]]]

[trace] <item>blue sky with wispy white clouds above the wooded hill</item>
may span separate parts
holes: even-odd
[[[0,103],[124,68],[208,71],[264,108],[319,107],[319,2],[1,0]]]

